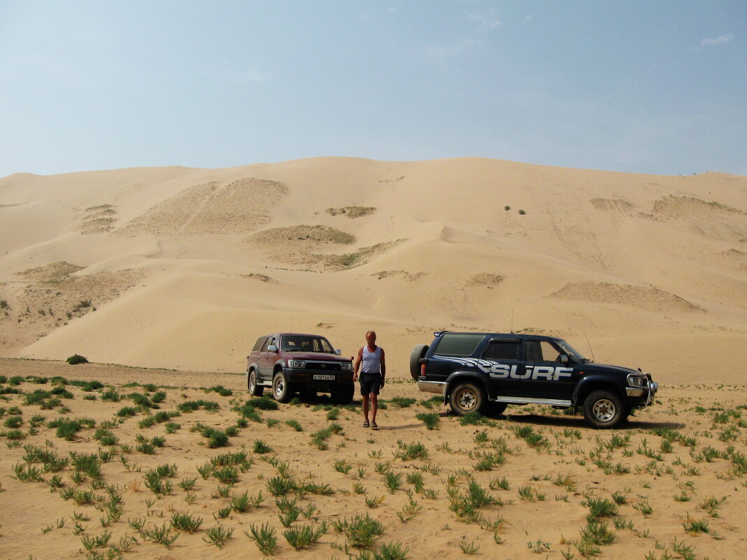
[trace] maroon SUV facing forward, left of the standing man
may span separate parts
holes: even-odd
[[[294,393],[309,398],[330,393],[347,405],[353,400],[353,364],[342,358],[323,336],[281,332],[257,339],[247,356],[249,394],[261,396],[271,387],[273,397],[288,402]]]

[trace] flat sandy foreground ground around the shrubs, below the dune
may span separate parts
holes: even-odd
[[[238,408],[250,399],[244,376],[8,359],[0,360],[0,376],[3,388],[21,391],[4,395],[0,421],[22,419],[17,428],[22,438],[9,437],[7,426],[0,437],[3,559],[117,557],[120,548],[128,549],[124,558],[135,559],[261,558],[247,532],[264,524],[275,530],[272,557],[283,559],[365,557],[392,544],[400,544],[409,558],[462,558],[473,551],[474,557],[489,559],[580,559],[577,545],[583,548],[583,532],[589,531],[589,504],[605,501],[609,517],[599,522],[606,526],[591,525],[606,529],[609,544],[595,545],[602,558],[731,560],[747,550],[743,385],[665,384],[656,404],[637,411],[627,425],[598,431],[581,417],[542,407],[509,407],[497,419],[463,426],[443,405],[427,402],[430,395],[418,393],[411,381],[392,379],[382,390],[379,429],[361,427],[359,402],[339,409],[320,396],[277,410],[257,408],[258,417],[242,424],[226,447],[211,449],[199,430],[237,425]],[[21,378],[18,385],[10,385],[13,376]],[[46,383],[40,383],[43,378]],[[62,380],[68,385],[59,385]],[[86,391],[72,381],[105,387]],[[54,408],[24,404],[33,391],[58,386],[69,396]],[[230,393],[219,394],[218,386]],[[165,393],[158,408],[118,414],[136,407],[132,393],[155,398],[158,391]],[[120,400],[112,401],[112,395]],[[217,410],[205,411],[205,401]],[[203,406],[173,415],[187,402]],[[141,425],[158,412],[171,415],[176,431],[167,432],[167,420]],[[418,420],[422,413],[436,415],[436,429]],[[88,420],[89,427],[70,441],[49,427],[55,420],[75,419]],[[335,428],[328,437],[315,442],[314,435],[330,426]],[[102,428],[116,444],[96,439]],[[527,442],[527,430],[539,436],[539,443]],[[138,447],[159,436],[164,441],[152,454]],[[71,461],[105,451],[111,458],[100,464],[98,478],[76,476],[72,464],[44,472],[45,463],[32,462],[34,450]],[[202,477],[198,469],[237,452],[244,452],[248,463],[236,467],[233,485],[222,484],[215,474]],[[149,471],[159,466],[176,470],[160,479],[171,485],[164,494],[148,488]],[[19,479],[18,469],[28,474],[34,467],[36,479]],[[390,490],[386,473],[399,479],[399,488],[394,484]],[[52,488],[55,476],[59,488]],[[326,523],[326,532],[308,548],[295,550],[283,535],[288,529],[281,520],[282,502],[276,502],[282,496],[271,491],[276,478],[306,488],[285,494],[308,514],[300,513],[290,529],[319,530]],[[478,507],[474,517],[450,499],[450,493],[467,496],[470,484],[491,502]],[[264,500],[247,511],[232,509],[232,500],[245,492]],[[86,496],[93,503],[85,503]],[[112,509],[114,497],[119,511]],[[202,523],[195,532],[170,529],[175,515]],[[335,530],[356,516],[380,523],[382,532],[368,548],[353,547],[356,541]],[[210,541],[216,528],[231,535],[221,549]],[[165,540],[176,540],[168,547],[159,544],[153,536],[158,529],[170,529]]]

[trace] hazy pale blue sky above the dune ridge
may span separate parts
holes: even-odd
[[[747,2],[0,0],[0,177],[317,156],[747,175]]]

